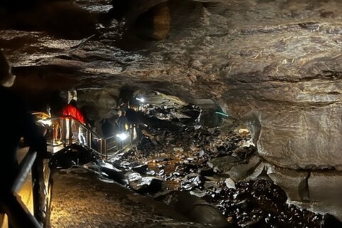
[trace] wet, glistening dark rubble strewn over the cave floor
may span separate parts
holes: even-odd
[[[176,109],[153,108],[148,114],[171,120],[173,115],[167,111]],[[148,128],[143,133],[137,147],[131,147],[120,158],[121,162],[137,165],[132,169],[140,175],[159,180],[159,185],[154,185],[157,190],[145,187],[145,192],[141,188],[138,192],[164,201],[174,191],[190,192],[219,209],[233,227],[324,227],[323,215],[286,204],[285,192],[266,175],[259,175],[257,180],[230,178],[232,167],[257,160],[256,167],[261,161],[249,134],[239,134],[237,129],[226,131],[222,126],[206,128],[196,124],[182,125],[177,131],[161,126]]]

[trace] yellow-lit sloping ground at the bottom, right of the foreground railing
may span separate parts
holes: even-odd
[[[53,175],[51,227],[210,227],[83,168]]]

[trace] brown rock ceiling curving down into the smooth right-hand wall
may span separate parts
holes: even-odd
[[[16,21],[0,24],[16,88],[113,95],[129,85],[168,90],[186,102],[212,99],[247,123],[269,162],[342,169],[341,1],[136,2],[115,9],[110,1],[82,1],[67,16],[80,14],[83,24],[69,24],[65,36],[56,21],[46,28],[36,17],[60,15],[61,7],[1,14]],[[96,25],[93,36],[85,25]]]

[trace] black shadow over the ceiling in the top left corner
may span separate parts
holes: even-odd
[[[47,31],[70,39],[95,34],[94,16],[68,1],[11,1],[0,4],[0,11],[0,29]]]

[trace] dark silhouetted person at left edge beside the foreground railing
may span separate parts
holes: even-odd
[[[39,156],[45,157],[48,152],[43,132],[36,125],[33,115],[28,113],[24,99],[10,88],[15,79],[6,56],[0,50],[0,105],[5,108],[0,112],[3,131],[0,138],[0,211],[8,215],[13,227],[39,227],[36,219],[27,214],[27,208],[13,192],[12,186],[19,174],[16,156],[22,137]]]

